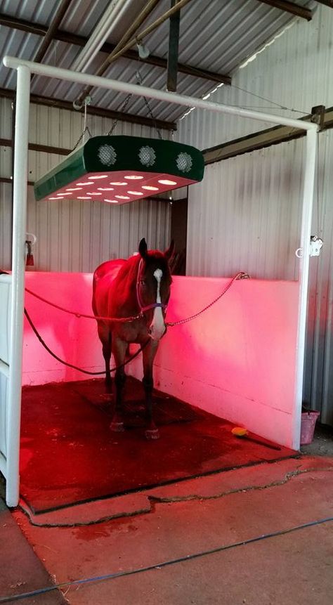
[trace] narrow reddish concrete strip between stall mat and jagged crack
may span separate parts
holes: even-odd
[[[278,462],[256,464],[251,467],[200,476],[197,479],[176,481],[151,490],[96,500],[84,505],[65,507],[42,514],[32,514],[23,501],[20,502],[20,507],[29,516],[31,523],[36,526],[89,525],[89,523],[100,523],[110,519],[118,519],[122,516],[149,513],[152,504],[155,502],[203,500],[223,497],[238,491],[263,489],[285,483],[292,476],[319,469],[333,470],[332,460],[297,457]]]

